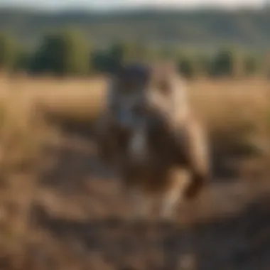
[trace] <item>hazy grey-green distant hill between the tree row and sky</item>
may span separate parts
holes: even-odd
[[[0,9],[0,31],[36,45],[48,31],[75,26],[93,45],[115,40],[212,49],[225,43],[270,47],[270,10],[264,11],[114,11],[48,13]]]

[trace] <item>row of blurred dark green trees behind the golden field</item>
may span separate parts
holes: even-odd
[[[180,46],[179,46],[180,47]],[[170,48],[154,49],[141,43],[116,41],[106,48],[92,48],[84,34],[68,29],[45,35],[29,51],[8,34],[0,35],[0,69],[31,75],[88,76],[113,72],[119,64],[172,58],[185,77],[239,77],[266,74],[266,60],[234,47],[211,55]]]

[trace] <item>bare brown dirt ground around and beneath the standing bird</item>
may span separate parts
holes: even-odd
[[[0,269],[269,269],[268,179],[218,175],[172,222],[131,223],[112,175],[89,140],[46,146],[23,244]]]

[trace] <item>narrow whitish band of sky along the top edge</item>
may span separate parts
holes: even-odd
[[[267,5],[266,0],[0,0],[0,9],[31,9],[42,11],[66,11],[70,9],[85,11],[125,11],[138,9],[261,9]],[[269,2],[270,3],[270,2]]]

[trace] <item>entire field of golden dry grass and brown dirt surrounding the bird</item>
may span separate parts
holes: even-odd
[[[104,80],[0,79],[0,269],[268,269],[269,82],[188,82],[213,179],[170,223],[128,224],[91,140]]]

